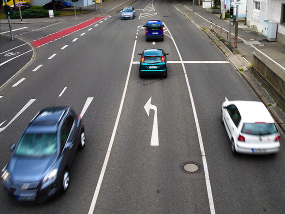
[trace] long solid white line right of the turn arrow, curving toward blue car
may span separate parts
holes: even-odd
[[[207,188],[207,194],[208,194],[210,213],[211,214],[215,214],[214,204],[213,204],[213,197],[212,197],[212,191],[211,191],[210,180],[209,180],[209,174],[208,174],[208,169],[207,169],[206,156],[205,156],[205,151],[204,151],[204,146],[203,146],[203,141],[202,141],[202,135],[201,135],[201,131],[200,131],[198,116],[197,116],[197,113],[196,113],[195,103],[194,103],[193,95],[192,95],[192,92],[191,92],[188,76],[187,76],[187,73],[186,73],[186,69],[185,69],[185,66],[184,66],[181,54],[180,54],[179,49],[178,49],[178,47],[176,45],[176,42],[174,41],[174,38],[172,37],[172,35],[171,35],[171,33],[170,33],[170,31],[169,31],[169,29],[167,28],[166,25],[165,25],[165,27],[166,27],[166,29],[168,30],[168,32],[169,32],[169,34],[171,36],[171,39],[172,39],[172,41],[174,43],[174,46],[176,48],[176,51],[177,51],[177,53],[179,55],[179,59],[181,61],[181,65],[182,65],[182,68],[183,68],[183,72],[184,72],[184,76],[185,76],[185,80],[186,80],[186,84],[187,84],[187,88],[188,88],[188,92],[189,92],[189,96],[190,96],[191,106],[192,106],[192,110],[193,110],[193,115],[194,115],[194,120],[195,120],[198,140],[199,140],[200,152],[201,152],[202,160],[203,160],[203,168],[204,168],[204,173],[205,173],[205,182],[206,182],[206,188]]]

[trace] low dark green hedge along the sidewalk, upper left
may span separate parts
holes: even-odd
[[[45,9],[25,9],[21,10],[22,18],[43,18],[43,17],[49,17],[48,10]],[[54,15],[59,15],[60,12],[53,11]],[[12,15],[10,15],[10,18],[20,18],[19,11],[14,11]]]

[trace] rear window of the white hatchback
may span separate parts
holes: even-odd
[[[277,133],[274,123],[244,123],[242,133],[248,135],[270,135]]]

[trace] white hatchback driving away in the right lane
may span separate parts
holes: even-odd
[[[221,122],[234,154],[273,154],[280,150],[280,135],[273,118],[261,102],[225,101]]]

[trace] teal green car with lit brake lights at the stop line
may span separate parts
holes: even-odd
[[[162,49],[145,49],[140,55],[139,60],[139,77],[149,75],[161,75],[167,77],[167,58]]]

